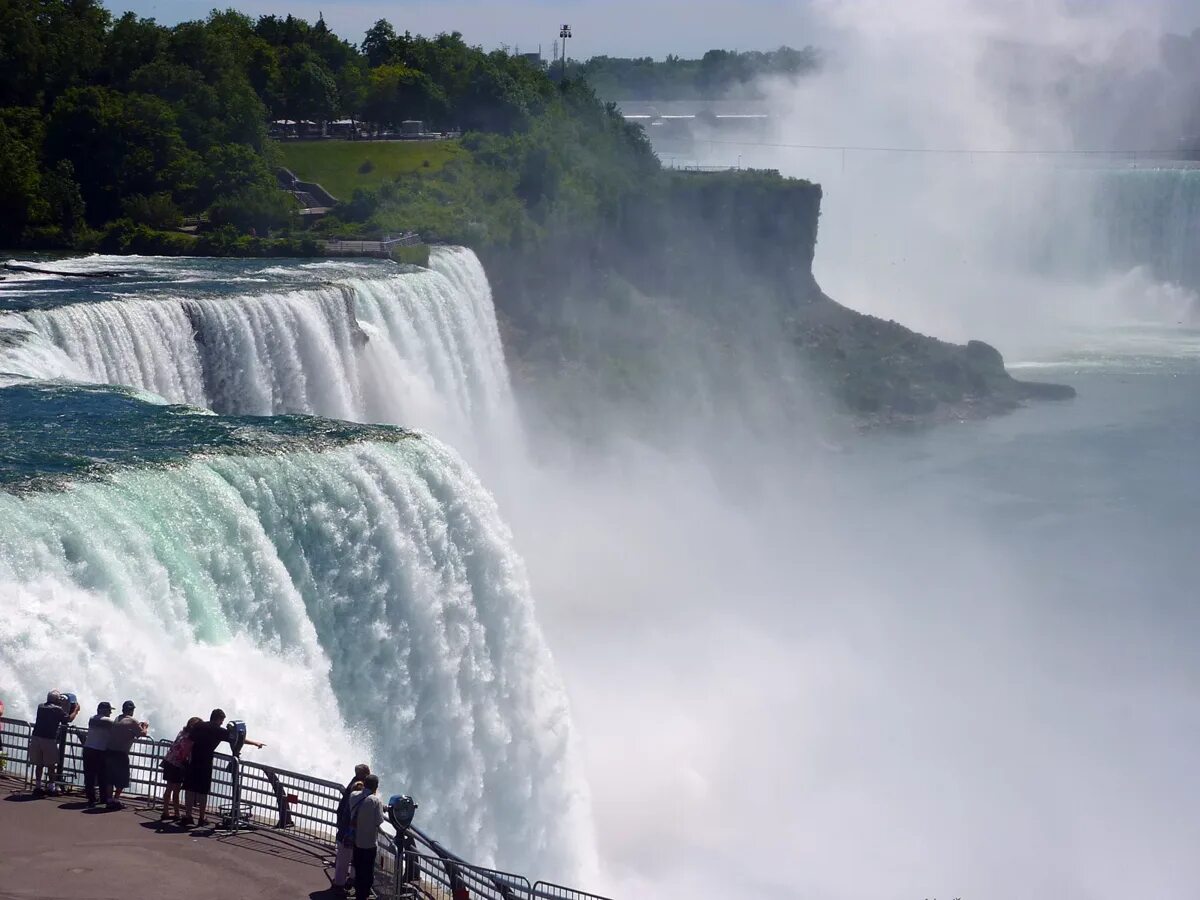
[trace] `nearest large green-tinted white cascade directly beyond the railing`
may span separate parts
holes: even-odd
[[[425,439],[197,458],[0,492],[0,684],[132,697],[156,736],[221,706],[256,758],[367,758],[481,863],[592,868],[566,698],[491,496]]]

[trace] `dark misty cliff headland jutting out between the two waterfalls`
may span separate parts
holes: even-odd
[[[518,374],[545,383],[582,370],[598,392],[628,400],[668,377],[666,332],[686,329],[696,354],[782,334],[808,386],[869,425],[1074,396],[1012,378],[982,341],[940,341],[827,296],[812,276],[820,209],[818,185],[776,173],[668,173],[593,240],[481,248]]]

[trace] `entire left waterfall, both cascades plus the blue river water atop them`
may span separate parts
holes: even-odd
[[[256,758],[334,779],[368,760],[479,863],[590,877],[524,563],[438,439],[518,427],[474,254],[48,268],[72,265],[121,277],[0,283],[8,714],[58,686],[133,697],[169,737],[221,706]]]

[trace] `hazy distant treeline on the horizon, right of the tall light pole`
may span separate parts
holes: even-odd
[[[700,59],[667,56],[661,61],[593,56],[569,62],[566,73],[584,79],[606,100],[719,100],[761,96],[761,79],[799,78],[820,65],[821,54],[814,47],[780,47],[767,53],[709,50]]]

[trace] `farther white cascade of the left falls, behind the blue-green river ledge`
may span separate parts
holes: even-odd
[[[504,350],[475,254],[436,247],[431,266],[330,282],[317,264],[302,287],[182,284],[13,313],[0,324],[35,335],[0,347],[0,372],[121,384],[217,413],[402,424],[470,455],[479,437],[514,427]]]

